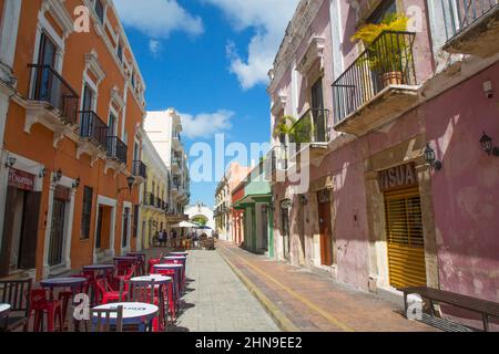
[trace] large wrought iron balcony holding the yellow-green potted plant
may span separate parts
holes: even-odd
[[[410,32],[383,32],[333,83],[336,131],[364,134],[410,107],[417,96],[415,39]]]

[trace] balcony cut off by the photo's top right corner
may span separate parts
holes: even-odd
[[[441,2],[450,53],[489,56],[499,49],[499,0]]]

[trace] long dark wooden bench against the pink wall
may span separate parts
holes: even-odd
[[[488,332],[489,329],[489,317],[499,317],[499,303],[481,300],[468,295],[461,295],[449,291],[444,291],[439,289],[428,288],[428,287],[409,287],[397,289],[404,293],[404,305],[405,313],[407,315],[407,295],[418,294],[424,299],[429,301],[431,315],[435,316],[434,302],[446,303],[454,305],[456,308],[478,312],[481,314],[483,322],[483,331]]]

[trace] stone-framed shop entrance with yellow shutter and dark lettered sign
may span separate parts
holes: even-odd
[[[419,135],[370,156],[366,166],[369,290],[438,288],[430,167]],[[394,163],[398,160],[399,163]]]

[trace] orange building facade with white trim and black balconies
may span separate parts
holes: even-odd
[[[112,1],[0,11],[0,278],[136,250],[145,84]]]

